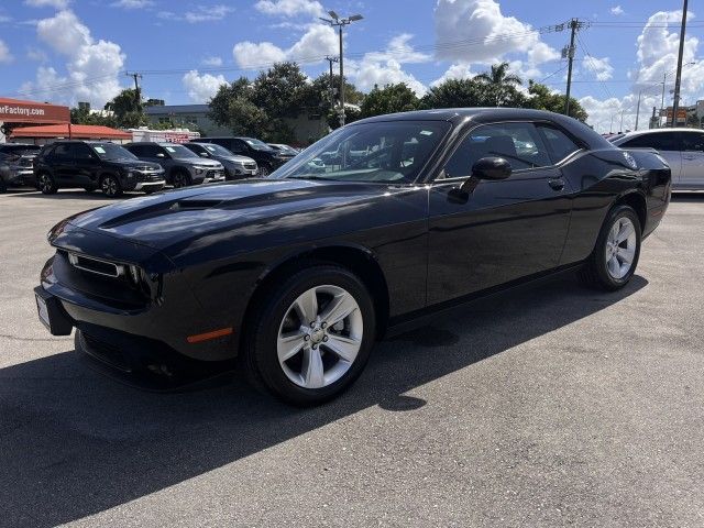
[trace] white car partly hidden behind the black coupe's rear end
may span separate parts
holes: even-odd
[[[608,139],[622,148],[654,148],[672,169],[674,190],[704,190],[704,131],[652,129]]]

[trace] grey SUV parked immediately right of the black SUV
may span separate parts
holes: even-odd
[[[205,160],[178,143],[136,142],[125,145],[132,154],[146,162],[158,163],[166,172],[166,184],[174,187],[224,182],[224,167],[215,160]]]

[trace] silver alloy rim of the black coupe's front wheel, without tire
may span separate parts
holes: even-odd
[[[327,387],[350,370],[363,334],[354,297],[339,286],[315,286],[286,310],[276,342],[278,363],[299,387]]]

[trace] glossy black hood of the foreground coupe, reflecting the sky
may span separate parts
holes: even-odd
[[[372,207],[372,196],[386,186],[302,179],[248,179],[206,185],[133,198],[86,211],[69,223],[178,257],[194,246],[227,241],[243,251],[251,240],[283,232],[294,222],[322,222],[326,215],[342,215]],[[388,194],[388,193],[387,193]],[[348,207],[349,206],[349,207]],[[346,208],[346,209],[345,209]],[[312,211],[318,211],[314,212]],[[321,215],[321,212],[323,215]],[[326,217],[327,218],[327,217]],[[329,229],[329,228],[328,228]],[[333,229],[355,229],[354,222]],[[314,235],[320,237],[321,231]]]

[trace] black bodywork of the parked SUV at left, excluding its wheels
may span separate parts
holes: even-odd
[[[50,174],[57,188],[95,189],[106,175],[117,177],[122,190],[164,186],[164,170],[158,164],[134,157],[103,160],[95,148],[105,143],[62,140],[46,145],[34,160],[34,175]]]

